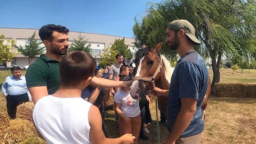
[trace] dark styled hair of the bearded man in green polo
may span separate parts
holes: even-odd
[[[63,33],[63,34],[69,33],[69,29],[67,29],[66,27],[63,27],[60,25],[56,26],[55,24],[47,24],[40,28],[39,36],[42,41],[49,40],[51,42],[53,40],[52,35],[54,31]]]

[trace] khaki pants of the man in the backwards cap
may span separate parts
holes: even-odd
[[[176,140],[175,144],[200,144],[202,138],[203,138],[203,132],[190,137],[185,137],[185,138],[179,137],[178,140]]]

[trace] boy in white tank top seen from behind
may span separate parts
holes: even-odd
[[[60,63],[61,85],[54,94],[36,102],[33,122],[40,138],[49,144],[129,144],[135,139],[125,134],[108,139],[102,131],[98,108],[81,98],[92,80],[94,58],[84,51],[73,51]]]

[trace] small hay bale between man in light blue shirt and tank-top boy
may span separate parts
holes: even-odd
[[[32,121],[32,111],[34,108],[33,102],[25,102],[17,108],[17,118]]]

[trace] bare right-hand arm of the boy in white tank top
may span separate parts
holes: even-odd
[[[90,124],[90,140],[93,144],[131,144],[135,139],[132,134],[125,134],[116,139],[106,138],[102,131],[102,120],[99,109],[92,105],[88,114]]]

